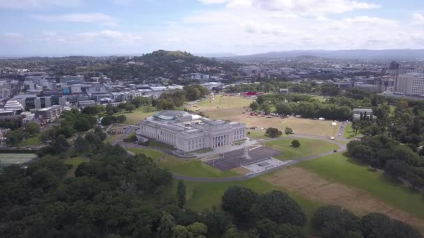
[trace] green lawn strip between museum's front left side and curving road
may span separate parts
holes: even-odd
[[[233,170],[222,171],[218,168],[205,164],[199,159],[177,159],[173,156],[167,156],[161,159],[158,165],[167,168],[172,173],[188,177],[237,177],[240,176]]]

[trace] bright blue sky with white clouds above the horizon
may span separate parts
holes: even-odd
[[[0,0],[0,56],[424,49],[423,0]]]

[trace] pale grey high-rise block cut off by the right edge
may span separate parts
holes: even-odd
[[[424,95],[424,74],[399,74],[395,90],[406,95]]]

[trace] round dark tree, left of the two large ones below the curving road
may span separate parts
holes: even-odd
[[[222,209],[233,212],[237,219],[247,219],[256,200],[257,193],[254,191],[241,186],[233,186],[227,189],[222,196]]]

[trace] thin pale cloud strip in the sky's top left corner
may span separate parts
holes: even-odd
[[[50,6],[79,6],[81,0],[0,0],[0,8],[28,9]]]

